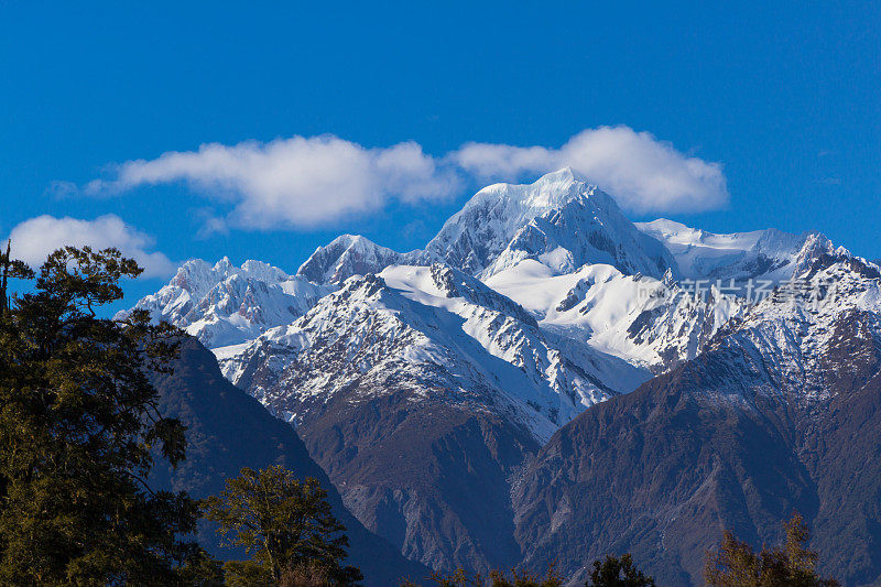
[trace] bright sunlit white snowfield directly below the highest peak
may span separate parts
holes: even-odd
[[[670,279],[626,275],[603,264],[556,275],[526,260],[492,275],[487,285],[531,311],[543,329],[653,371],[694,358],[746,309],[715,287],[695,296]]]

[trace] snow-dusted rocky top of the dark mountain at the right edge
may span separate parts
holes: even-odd
[[[848,387],[841,380],[864,377],[857,373],[881,360],[878,267],[839,249],[797,278],[801,294],[781,289],[717,334],[707,350],[743,374],[722,379],[710,395],[828,400]]]

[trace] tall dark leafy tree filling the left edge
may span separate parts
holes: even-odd
[[[170,371],[177,330],[97,316],[141,273],[116,249],[59,249],[10,302],[8,278],[34,273],[9,247],[0,269],[0,583],[177,583],[204,556],[178,539],[198,507],[144,481],[157,456],[184,458],[148,374]]]

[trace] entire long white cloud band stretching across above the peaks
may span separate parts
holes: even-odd
[[[85,192],[183,182],[231,206],[225,218],[210,219],[209,230],[312,228],[392,200],[454,197],[476,182],[533,181],[567,165],[630,211],[701,211],[728,202],[720,164],[628,127],[588,129],[561,148],[467,143],[442,156],[415,142],[368,149],[334,135],[210,143],[116,165]]]

